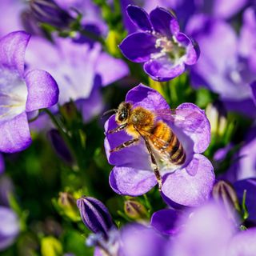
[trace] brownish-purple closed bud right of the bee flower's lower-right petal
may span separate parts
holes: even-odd
[[[228,216],[236,222],[236,211],[240,213],[241,209],[233,186],[228,182],[217,182],[214,185],[213,198],[216,202],[222,203],[225,206]]]

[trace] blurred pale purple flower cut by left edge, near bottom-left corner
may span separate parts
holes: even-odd
[[[0,206],[0,251],[14,242],[19,230],[18,218],[14,211]]]

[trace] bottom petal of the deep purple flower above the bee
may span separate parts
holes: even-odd
[[[172,62],[170,58],[164,56],[146,62],[144,70],[152,79],[165,82],[182,74],[185,70],[185,65],[183,62]]]

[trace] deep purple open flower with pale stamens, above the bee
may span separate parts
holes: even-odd
[[[179,30],[174,14],[157,7],[147,14],[138,6],[128,6],[127,14],[140,32],[130,34],[120,47],[132,62],[145,62],[144,70],[157,81],[168,81],[182,74],[186,65],[198,60],[194,41]]]

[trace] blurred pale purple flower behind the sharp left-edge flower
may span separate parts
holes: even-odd
[[[126,63],[102,52],[100,44],[94,43],[91,47],[70,38],[56,38],[53,44],[44,38],[32,37],[26,63],[49,71],[59,85],[59,103],[77,101],[85,120],[102,111],[99,88],[129,74]]]

